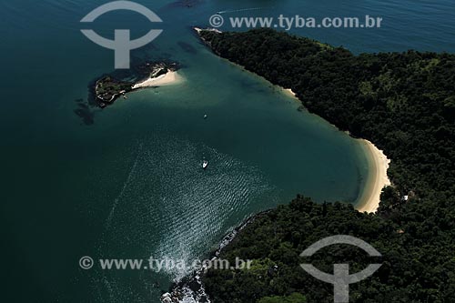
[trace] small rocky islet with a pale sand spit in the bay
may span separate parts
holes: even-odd
[[[95,83],[94,95],[96,104],[101,108],[112,105],[120,96],[126,97],[126,93],[133,90],[170,84],[177,81],[177,64],[147,63],[137,66],[132,73],[139,81],[119,80],[115,76],[103,76]],[[132,77],[132,76],[129,76]]]

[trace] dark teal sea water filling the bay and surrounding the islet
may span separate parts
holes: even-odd
[[[133,56],[177,61],[185,81],[100,110],[86,107],[87,86],[112,71],[114,53],[87,40],[79,20],[106,1],[0,1],[3,301],[157,302],[186,270],[83,270],[79,258],[204,258],[243,219],[298,193],[356,202],[368,175],[358,142],[212,55],[190,26],[226,10],[378,15],[380,29],[291,32],[355,53],[455,51],[445,0],[137,2],[164,33]],[[93,26],[106,37],[150,28],[131,12]]]

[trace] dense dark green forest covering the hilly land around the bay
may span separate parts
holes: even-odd
[[[338,234],[360,237],[383,254],[374,276],[350,285],[351,302],[453,302],[455,56],[355,56],[270,29],[200,35],[217,55],[291,88],[310,112],[384,150],[393,183],[374,215],[305,197],[260,215],[220,255],[253,259],[253,268],[210,269],[203,277],[214,302],[332,302],[332,285],[299,268],[298,255]],[[355,260],[351,272],[371,263],[352,247],[323,252],[311,262],[327,272],[335,260]]]

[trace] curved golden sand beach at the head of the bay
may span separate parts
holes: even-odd
[[[372,213],[379,207],[382,188],[390,185],[389,177],[387,177],[390,160],[384,155],[382,150],[379,150],[368,140],[360,139],[360,143],[367,153],[371,171],[356,208],[360,212]]]

